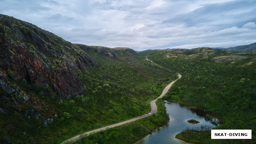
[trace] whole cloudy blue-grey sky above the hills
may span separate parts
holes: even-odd
[[[0,13],[71,43],[134,50],[256,42],[256,0],[0,0]]]

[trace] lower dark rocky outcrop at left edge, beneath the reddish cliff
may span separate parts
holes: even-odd
[[[51,106],[37,97],[33,97],[33,95],[29,96],[28,93],[22,91],[17,85],[10,83],[4,76],[0,76],[0,89],[0,113],[2,114],[17,114],[28,118],[38,118],[38,123],[43,123],[45,126],[48,126],[53,121],[52,118],[57,115]],[[45,119],[45,117],[48,117],[48,119]]]

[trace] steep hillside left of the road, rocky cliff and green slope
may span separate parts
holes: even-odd
[[[71,44],[6,15],[0,15],[0,50],[0,143],[61,143],[140,116],[178,77],[132,49]],[[122,143],[168,120],[162,108],[141,120],[143,134]]]

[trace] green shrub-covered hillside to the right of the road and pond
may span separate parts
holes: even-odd
[[[148,59],[182,75],[164,97],[165,100],[187,103],[220,114],[224,122],[216,129],[252,129],[252,140],[209,138],[201,143],[255,142],[255,54],[196,48],[152,52]],[[190,139],[192,137],[184,138]]]

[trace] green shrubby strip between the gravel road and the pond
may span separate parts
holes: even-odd
[[[120,125],[91,134],[81,140],[77,140],[75,143],[135,143],[143,139],[146,135],[152,133],[157,127],[166,124],[169,121],[169,115],[166,113],[166,108],[162,100],[157,100],[156,105],[157,114],[153,114],[152,116],[145,117],[129,124]]]

